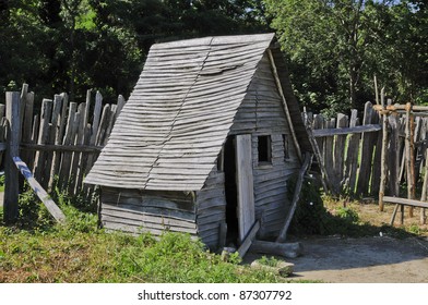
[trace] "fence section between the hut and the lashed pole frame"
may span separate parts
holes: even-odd
[[[374,195],[380,181],[382,132],[379,115],[371,102],[366,103],[362,120],[357,110],[350,113],[350,118],[340,113],[330,120],[321,114],[306,113],[308,132],[314,138],[314,150],[319,151],[317,159],[329,182],[329,192]]]

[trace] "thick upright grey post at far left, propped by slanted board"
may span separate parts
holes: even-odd
[[[5,118],[8,124],[8,148],[4,164],[4,222],[13,223],[17,219],[17,199],[20,194],[19,171],[12,157],[20,155],[20,93],[5,93]]]

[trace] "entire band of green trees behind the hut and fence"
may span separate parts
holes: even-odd
[[[0,93],[127,97],[153,42],[272,30],[314,110],[361,108],[374,75],[396,101],[427,102],[423,0],[0,0]]]

